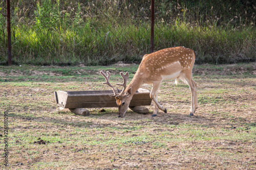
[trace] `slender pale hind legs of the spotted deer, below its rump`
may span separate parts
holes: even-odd
[[[190,74],[185,74],[184,72],[181,74],[180,79],[189,86],[191,92],[191,109],[189,112],[190,116],[193,116],[197,107],[197,83],[191,79],[191,72]]]

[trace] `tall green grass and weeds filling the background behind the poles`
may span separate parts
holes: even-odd
[[[24,4],[23,9],[12,11],[14,62],[81,62],[87,65],[136,62],[150,51],[149,6],[142,8],[143,4],[135,6],[136,2],[129,5],[112,1],[75,3],[73,6],[59,0],[32,3],[35,3],[32,10],[26,10]],[[172,46],[193,48],[197,63],[256,61],[255,18],[241,19],[244,17],[241,15],[239,21],[236,17],[225,20],[213,8],[204,13],[194,10],[193,17],[191,4],[167,3],[163,6],[164,3],[158,1],[156,5],[155,50]],[[0,9],[1,6],[3,3]],[[198,6],[202,8],[203,5]],[[7,33],[3,12],[0,23],[0,62],[6,62]]]

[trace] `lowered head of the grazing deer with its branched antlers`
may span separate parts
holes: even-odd
[[[123,78],[123,83],[122,84],[116,83],[116,85],[123,86],[122,91],[119,90],[118,88],[117,88],[117,90],[115,90],[115,88],[110,84],[110,72],[109,71],[106,71],[108,76],[106,76],[103,71],[100,71],[100,73],[106,79],[106,82],[104,82],[103,84],[109,85],[114,92],[114,95],[110,95],[110,96],[112,96],[116,99],[116,104],[118,106],[118,117],[123,117],[130,105],[130,102],[131,102],[132,96],[133,96],[132,95],[132,87],[130,87],[126,90],[126,84],[127,84],[127,79],[129,77],[129,73],[126,72],[124,75],[123,72],[120,72],[120,75]]]

